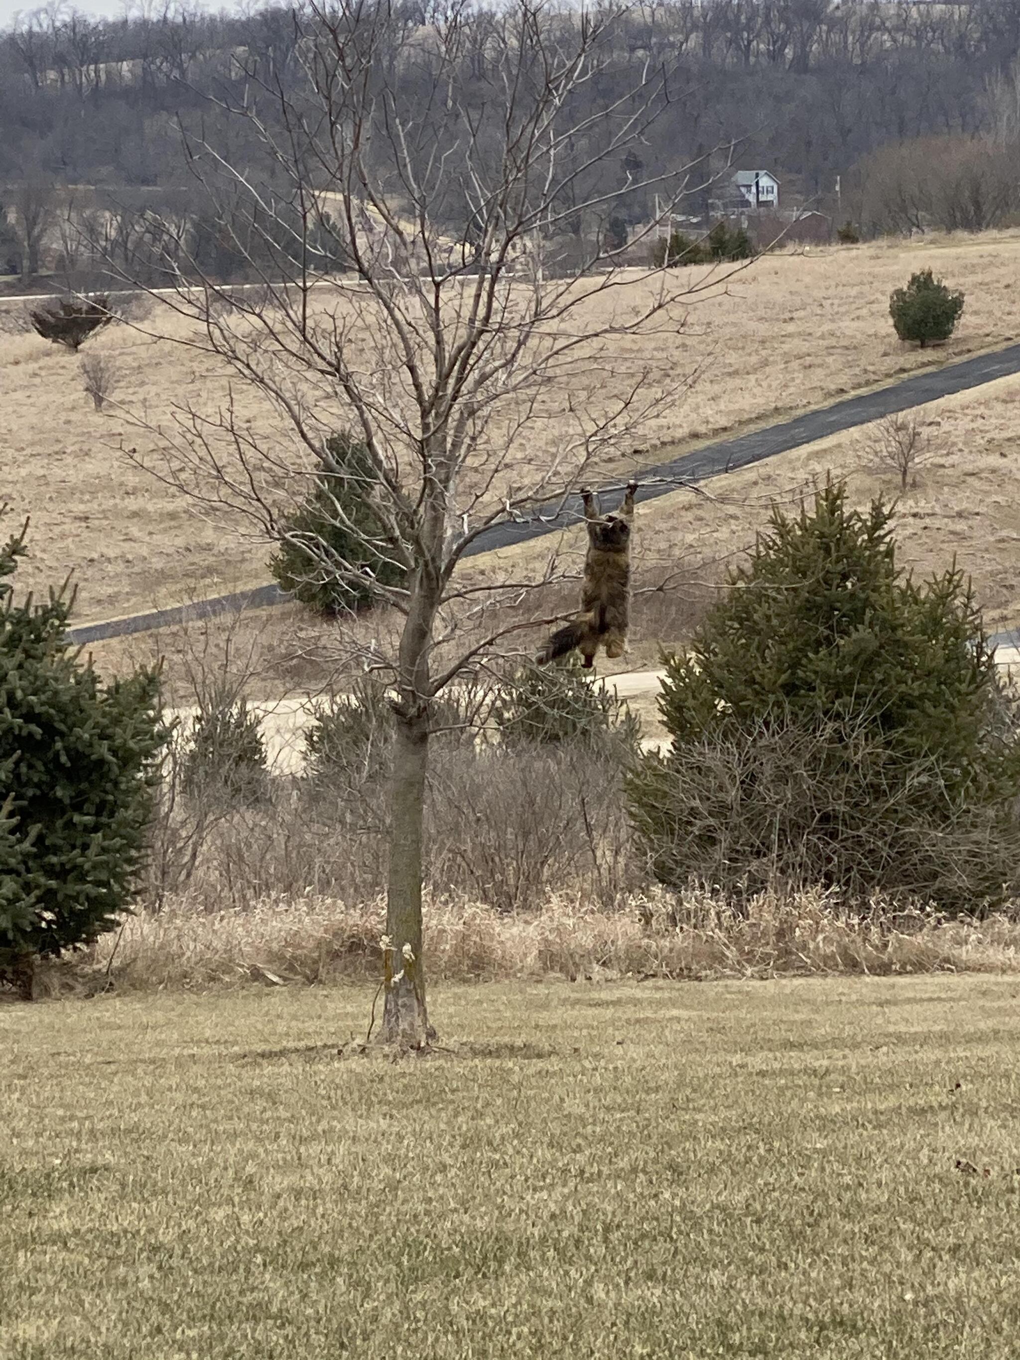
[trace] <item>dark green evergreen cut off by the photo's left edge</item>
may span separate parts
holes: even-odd
[[[72,597],[18,601],[0,547],[0,974],[90,944],[129,908],[166,738],[158,675],[102,685],[67,641]]]

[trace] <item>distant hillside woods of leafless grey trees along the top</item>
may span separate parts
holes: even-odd
[[[390,7],[404,30],[428,15],[420,5]],[[552,11],[548,11],[552,14]],[[573,22],[566,19],[563,22]],[[480,12],[452,72],[465,105],[486,88],[498,12]],[[396,29],[394,29],[396,33]],[[303,46],[302,46],[303,44]],[[413,63],[400,63],[400,41],[381,53],[384,67],[408,102],[427,98]],[[889,144],[947,140],[937,150],[945,174],[959,188],[910,189],[906,204],[888,205],[881,184],[892,169],[869,169],[874,186],[847,215],[873,230],[902,230],[918,218],[970,226],[1005,211],[1002,159],[991,148],[1016,144],[1017,102],[1013,63],[1020,54],[1020,19],[1012,0],[966,5],[891,4],[872,0],[662,0],[635,4],[620,18],[612,58],[598,80],[574,91],[575,109],[593,114],[624,97],[641,71],[669,67],[676,80],[669,105],[628,166],[604,165],[626,222],[647,220],[650,196],[642,181],[662,173],[675,154],[685,162],[711,160],[713,147],[738,143],[747,163],[763,165],[834,214],[836,175]],[[110,222],[116,248],[144,258],[136,219],[146,207],[166,216],[180,204],[186,156],[173,129],[177,116],[196,135],[231,144],[231,156],[260,154],[249,126],[220,109],[242,98],[252,71],[282,88],[303,79],[307,44],[287,8],[239,15],[186,5],[146,7],[117,20],[88,19],[73,8],[30,11],[0,35],[0,264],[16,258],[31,275],[45,234],[50,262],[72,268],[73,242],[61,219],[99,212]],[[427,83],[427,82],[426,82]],[[219,102],[218,102],[219,101]],[[974,139],[979,170],[963,174]],[[925,155],[918,150],[917,158]],[[888,158],[887,158],[888,159]],[[718,163],[707,170],[718,170]],[[907,173],[907,167],[903,167]],[[703,178],[711,178],[704,174]],[[966,181],[966,184],[964,184]],[[71,186],[92,185],[95,190]],[[58,190],[54,193],[54,186]],[[926,200],[937,200],[934,205]],[[947,207],[938,204],[947,200]],[[860,204],[860,208],[858,208]],[[215,216],[199,204],[194,230],[204,265],[239,276],[241,260]],[[578,228],[583,226],[575,214]]]

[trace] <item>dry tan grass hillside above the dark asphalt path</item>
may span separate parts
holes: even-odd
[[[657,412],[642,431],[641,453],[632,445],[617,450],[620,468],[643,462],[664,446],[777,419],[904,371],[1008,343],[1020,335],[1020,288],[1013,286],[1019,253],[1020,234],[997,234],[764,257],[725,291],[703,295],[679,333],[624,340],[602,355],[620,390],[641,373],[647,374],[653,394],[666,390],[677,375],[691,378],[683,400]],[[885,309],[889,290],[911,269],[928,265],[964,288],[967,310],[948,345],[918,352],[896,341]],[[158,309],[147,326],[163,324]],[[180,339],[182,324],[170,317],[166,335]],[[264,543],[245,534],[239,522],[224,526],[208,518],[118,450],[121,442],[137,442],[128,415],[165,424],[174,404],[215,411],[227,396],[226,374],[197,351],[128,326],[110,329],[92,344],[117,367],[120,407],[109,413],[92,409],[72,355],[35,336],[0,337],[7,420],[0,503],[10,503],[11,520],[33,520],[33,556],[22,582],[42,588],[73,571],[78,617],[84,622],[265,579]],[[235,397],[242,415],[250,405],[252,419],[264,419],[246,392],[235,389]],[[555,423],[543,438],[555,445]],[[779,487],[792,472],[745,476],[774,477]],[[970,466],[960,476],[970,479]],[[962,549],[981,525],[987,574],[996,575],[990,559],[997,540],[985,532],[985,514],[971,515],[967,505],[956,503],[963,483],[940,473],[933,486],[940,496],[952,491],[953,509],[942,507],[930,524],[919,524],[918,539],[932,534],[933,541]],[[966,487],[967,495],[972,488],[976,483]],[[915,509],[929,515],[925,495],[919,488]],[[675,515],[676,510],[661,502],[646,514]],[[717,532],[718,521],[707,509],[691,515],[695,532]],[[1009,532],[1006,518],[996,532]],[[751,521],[728,524],[726,533],[737,536],[751,526]],[[1006,574],[1000,573],[1004,609]],[[975,577],[982,578],[976,568]]]

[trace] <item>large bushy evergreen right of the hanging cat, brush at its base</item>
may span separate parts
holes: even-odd
[[[891,510],[827,486],[777,511],[690,651],[666,658],[669,755],[631,812],[670,884],[811,879],[967,910],[1020,862],[1020,744],[963,575],[896,566]]]

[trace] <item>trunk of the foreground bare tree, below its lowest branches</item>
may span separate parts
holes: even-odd
[[[388,949],[384,960],[386,1002],[384,1043],[422,1049],[432,1032],[426,1009],[422,963],[422,861],[424,789],[428,766],[428,714],[424,704],[396,715],[390,775]]]

